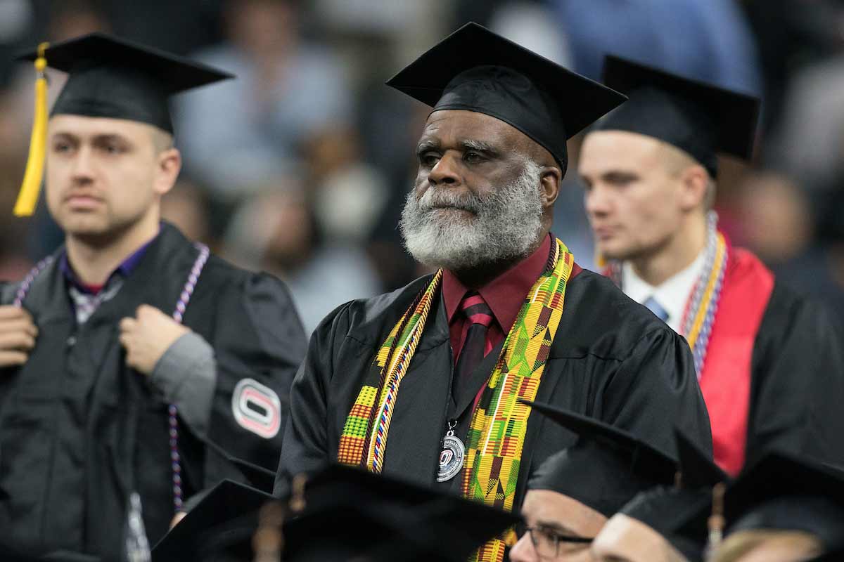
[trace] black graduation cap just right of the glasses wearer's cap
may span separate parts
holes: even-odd
[[[646,524],[672,544],[687,559],[703,558],[707,540],[707,518],[712,506],[712,487],[726,483],[728,474],[718,468],[711,455],[674,428],[679,456],[678,485],[645,490],[621,508],[619,513]]]

